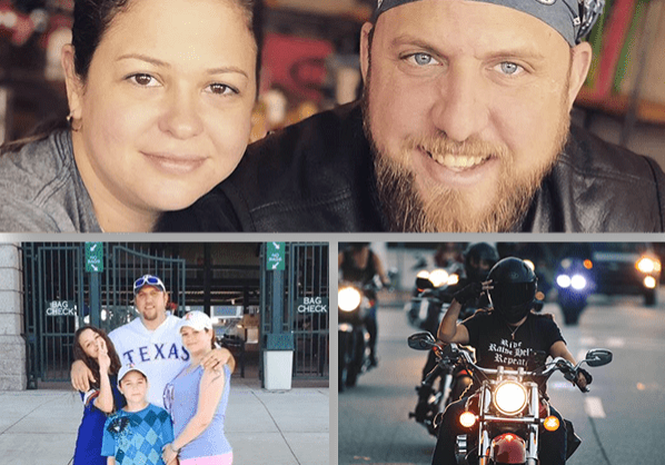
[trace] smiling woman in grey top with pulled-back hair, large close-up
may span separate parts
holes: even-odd
[[[0,157],[0,229],[151,231],[236,168],[257,95],[255,0],[76,0],[69,128]]]

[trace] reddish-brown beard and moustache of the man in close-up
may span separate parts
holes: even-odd
[[[564,96],[567,95],[567,86]],[[515,157],[503,144],[486,142],[472,137],[464,142],[450,140],[445,133],[435,137],[411,136],[401,154],[387,155],[375,141],[369,118],[369,75],[363,97],[364,129],[369,140],[376,171],[377,197],[391,231],[401,233],[502,233],[512,231],[526,215],[543,179],[553,169],[563,150],[570,125],[570,116],[562,101],[558,128],[552,152],[543,161],[518,172]],[[416,186],[411,155],[423,149],[429,154],[457,154],[467,157],[494,157],[500,162],[495,200],[479,208],[474,198],[483,191],[461,191],[428,181],[428,196]]]

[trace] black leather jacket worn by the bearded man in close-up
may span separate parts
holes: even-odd
[[[572,127],[515,233],[663,233],[665,175],[651,158]],[[165,231],[386,231],[358,102],[251,145],[238,168]]]

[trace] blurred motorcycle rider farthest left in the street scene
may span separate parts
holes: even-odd
[[[341,270],[341,279],[347,281],[369,284],[375,276],[379,276],[381,284],[388,286],[390,279],[384,270],[379,257],[371,251],[369,243],[348,243],[348,247],[337,256],[337,270]],[[376,320],[376,310],[378,300],[376,291],[367,290],[367,298],[374,301],[371,308],[365,318],[365,326],[369,333],[370,366],[376,367],[378,360],[376,357],[376,338],[378,335],[378,324]]]

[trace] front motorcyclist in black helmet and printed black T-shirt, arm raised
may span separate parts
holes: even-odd
[[[537,352],[563,357],[576,364],[552,315],[532,311],[536,295],[536,275],[519,258],[508,257],[498,261],[483,285],[473,283],[455,294],[455,299],[444,317],[437,338],[445,343],[468,344],[476,348],[477,365],[483,368],[534,369],[530,365]],[[478,310],[457,324],[461,307],[483,291],[488,291],[493,309]],[[580,388],[592,383],[592,376],[579,368],[576,376]],[[474,386],[477,388],[478,386]],[[547,399],[547,386],[539,386]],[[466,398],[450,404],[444,413],[443,425],[433,456],[433,465],[456,464],[455,438],[466,434],[457,418],[465,408]],[[559,465],[566,462],[566,427],[560,415],[550,406],[562,427],[540,435],[540,465]]]

